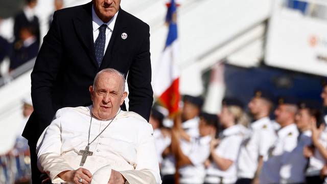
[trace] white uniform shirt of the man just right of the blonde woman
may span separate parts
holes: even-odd
[[[268,117],[251,124],[251,130],[242,141],[238,158],[238,178],[254,178],[259,156],[266,156],[276,141],[276,133]]]

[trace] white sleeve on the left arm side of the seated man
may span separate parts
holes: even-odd
[[[61,156],[60,120],[61,110],[59,109],[36,145],[38,167],[49,175],[53,183],[64,182],[57,176],[62,171],[74,170]]]

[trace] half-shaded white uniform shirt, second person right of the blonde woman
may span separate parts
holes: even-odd
[[[264,165],[260,174],[260,183],[279,183],[283,160],[289,159],[290,152],[297,145],[298,130],[293,123],[277,132],[277,140],[264,158]]]

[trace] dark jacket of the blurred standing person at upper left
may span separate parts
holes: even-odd
[[[37,16],[34,16],[32,21],[29,21],[23,11],[18,13],[14,19],[14,36],[15,42],[20,39],[19,32],[23,27],[32,27],[33,33],[36,36],[37,43],[40,45],[40,23]]]

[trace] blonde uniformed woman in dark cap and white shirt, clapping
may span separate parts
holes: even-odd
[[[237,99],[223,100],[219,121],[224,130],[210,146],[212,163],[206,169],[205,183],[235,183],[236,162],[246,124],[243,104]]]

